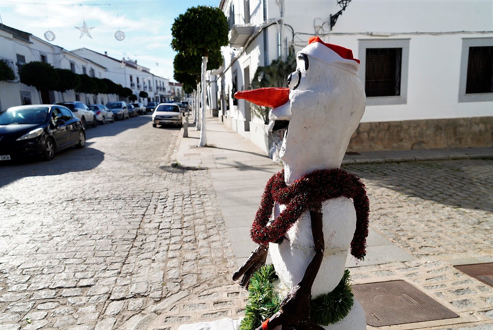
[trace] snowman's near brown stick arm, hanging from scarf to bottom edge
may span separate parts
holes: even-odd
[[[310,207],[312,234],[315,244],[315,256],[308,265],[301,282],[291,289],[281,302],[281,309],[267,321],[267,329],[272,330],[282,325],[282,330],[323,330],[315,322],[310,321],[310,300],[312,286],[317,277],[325,249],[323,239],[321,205]],[[263,327],[257,330],[265,330]]]

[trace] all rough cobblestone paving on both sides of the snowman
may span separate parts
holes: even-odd
[[[210,171],[169,167],[178,132],[142,116],[88,129],[86,148],[51,162],[1,165],[0,330],[243,315],[230,240],[244,238],[228,237]],[[493,319],[493,288],[453,267],[493,257],[493,161],[343,167],[367,185],[372,229],[416,258],[351,268],[354,283],[404,279],[459,315],[422,329]]]

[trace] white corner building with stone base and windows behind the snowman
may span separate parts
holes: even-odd
[[[258,66],[308,39],[352,49],[361,60],[366,111],[349,150],[493,146],[493,2],[221,0],[230,45],[217,76],[224,124],[264,151],[269,136],[249,103]]]

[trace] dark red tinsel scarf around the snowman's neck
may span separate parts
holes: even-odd
[[[356,230],[351,242],[351,254],[363,260],[366,255],[370,205],[364,183],[357,175],[341,168],[314,170],[289,186],[284,182],[284,170],[274,174],[265,186],[251,225],[250,237],[262,246],[267,246],[269,242],[279,242],[307,206],[339,197],[350,198],[354,204]],[[286,208],[269,223],[275,202]]]

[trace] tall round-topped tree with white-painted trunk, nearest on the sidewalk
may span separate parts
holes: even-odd
[[[197,6],[188,8],[173,23],[171,45],[174,50],[200,56],[202,58],[202,128],[199,147],[207,144],[206,136],[206,70],[209,69],[208,57],[220,53],[221,46],[228,44],[228,20],[217,7]],[[211,69],[217,69],[212,67]]]

